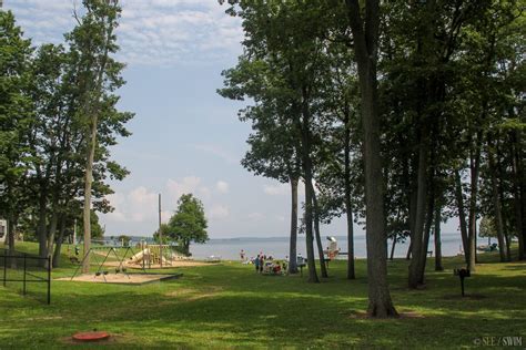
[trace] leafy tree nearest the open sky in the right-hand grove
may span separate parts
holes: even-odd
[[[243,100],[244,95],[266,100],[264,92],[275,89],[267,85],[271,72],[266,63],[240,59],[237,66],[223,72],[225,87],[218,92],[229,99]],[[289,247],[289,272],[296,274],[297,240],[297,186],[301,176],[301,159],[294,125],[287,110],[281,103],[260,103],[240,111],[241,121],[251,121],[253,133],[246,143],[250,150],[241,164],[256,175],[275,178],[291,185],[291,233]]]

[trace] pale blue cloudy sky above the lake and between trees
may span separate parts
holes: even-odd
[[[100,214],[105,236],[151,236],[178,198],[192,193],[203,202],[211,238],[286,236],[290,186],[253,176],[240,165],[251,132],[237,119],[243,102],[218,95],[221,72],[242,52],[239,19],[216,0],[120,0],[118,29],[127,63],[120,109],[134,112],[132,135],[112,148],[114,161],[131,174],[111,183],[113,213]],[[63,42],[81,0],[3,0],[33,44]],[[303,192],[300,191],[302,195]],[[322,227],[345,235],[345,222]],[[448,223],[446,231],[456,230]],[[356,235],[363,235],[355,226]]]

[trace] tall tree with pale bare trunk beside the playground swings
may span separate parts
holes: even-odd
[[[93,184],[93,163],[97,151],[98,126],[103,122],[104,103],[108,93],[123,84],[120,71],[123,65],[111,58],[118,45],[114,30],[119,24],[121,9],[117,0],[83,0],[85,13],[75,18],[78,27],[67,35],[70,50],[79,64],[79,111],[85,127],[85,185],[84,185],[84,251],[91,241],[91,193]],[[104,100],[107,102],[104,102]],[[88,256],[89,257],[89,256]],[[82,271],[89,271],[89,258],[84,259]]]

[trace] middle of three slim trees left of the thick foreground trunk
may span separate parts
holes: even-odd
[[[321,64],[325,21],[330,16],[317,3],[271,1],[230,1],[229,13],[240,16],[247,40],[245,55],[265,62],[271,72],[271,90],[251,95],[256,103],[279,103],[287,111],[300,151],[305,183],[305,236],[308,280],[317,282],[314,258],[314,178],[313,150],[316,130],[318,78],[326,69]],[[305,9],[308,7],[308,10]],[[269,86],[269,84],[265,84]],[[280,92],[280,93],[277,93]]]

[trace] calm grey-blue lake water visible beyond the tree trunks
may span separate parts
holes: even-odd
[[[344,236],[336,236],[341,251],[347,251],[347,239]],[[479,238],[481,239],[481,238]],[[482,243],[482,240],[479,240]],[[485,243],[485,240],[484,240]],[[323,248],[327,247],[328,240],[323,237]],[[456,256],[462,245],[461,234],[443,234],[442,235],[442,254],[443,256]],[[391,254],[391,240],[387,247]],[[405,257],[407,254],[408,243],[397,243],[395,247],[395,257]],[[271,255],[275,258],[282,259],[289,255],[289,237],[271,237],[271,238],[225,238],[225,239],[210,239],[208,243],[198,245],[192,244],[190,251],[195,259],[203,259],[211,255],[220,256],[226,260],[240,259],[240,251],[243,249],[246,257],[255,257],[260,251],[265,255]],[[316,249],[316,248],[315,248]],[[354,250],[357,258],[365,258],[365,237],[354,238]],[[429,249],[435,250],[433,237],[429,239]],[[305,236],[297,237],[297,253],[304,257],[305,253]],[[342,256],[341,258],[346,258]]]

